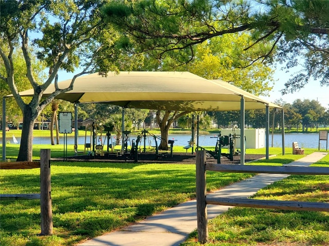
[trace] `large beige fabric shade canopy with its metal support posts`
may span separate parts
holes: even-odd
[[[71,79],[64,80],[58,83],[58,87],[64,89],[70,83]],[[220,80],[208,80],[190,72],[109,72],[107,76],[93,73],[76,78],[73,89],[59,94],[56,98],[70,101],[76,105],[106,103],[122,108],[154,110],[240,110],[241,126],[245,125],[245,109],[266,108],[268,111],[269,108],[281,108],[224,83]],[[54,85],[49,86],[44,91],[43,97],[51,95],[54,90]],[[32,96],[34,91],[31,89],[19,94]],[[241,129],[241,135],[244,136],[243,129]],[[241,137],[242,164],[244,163],[243,139],[244,137]]]

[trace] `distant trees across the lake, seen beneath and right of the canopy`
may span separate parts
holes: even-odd
[[[285,112],[285,128],[288,130],[307,132],[309,129],[319,126],[329,126],[329,108],[324,108],[316,100],[296,99],[292,104],[277,100],[277,105],[283,107]],[[121,125],[122,109],[118,106],[106,104],[86,104],[81,105],[79,117],[82,119],[93,118],[98,122],[111,121],[113,124]],[[275,129],[281,129],[281,110],[270,110],[270,127],[275,114]],[[125,109],[125,129],[137,131],[140,128],[156,126],[155,110]],[[200,129],[211,127],[211,122],[219,128],[240,128],[240,111],[217,111],[217,112],[191,112],[181,116],[174,122],[175,127],[191,129],[192,115],[199,115]],[[265,110],[246,110],[245,128],[265,128]],[[151,124],[152,122],[152,124]]]

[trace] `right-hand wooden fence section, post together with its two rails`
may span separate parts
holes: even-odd
[[[329,175],[329,168],[297,167],[297,166],[240,166],[207,164],[206,151],[196,151],[196,213],[197,233],[200,243],[208,242],[207,204],[252,207],[282,210],[326,211],[329,212],[329,203],[257,200],[248,198],[207,198],[206,171],[231,173],[277,173],[295,175]]]

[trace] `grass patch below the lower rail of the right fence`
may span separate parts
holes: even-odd
[[[327,245],[327,219],[320,212],[233,208],[212,221],[209,234],[213,245]]]

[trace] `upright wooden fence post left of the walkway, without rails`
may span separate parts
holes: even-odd
[[[52,235],[50,149],[40,150],[41,235]]]

